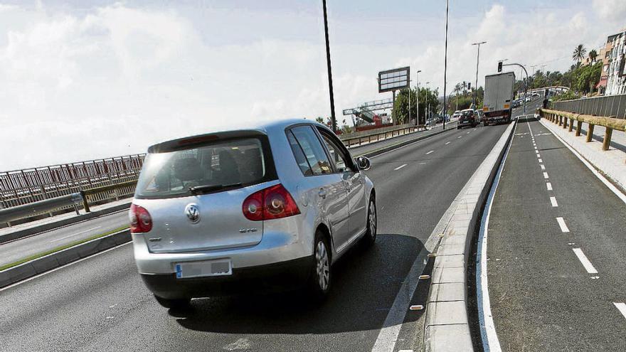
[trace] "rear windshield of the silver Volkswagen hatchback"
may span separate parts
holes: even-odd
[[[276,176],[269,150],[266,140],[253,137],[149,153],[135,197],[191,196],[270,181]]]

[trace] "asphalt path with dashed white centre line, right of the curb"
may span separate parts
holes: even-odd
[[[625,203],[541,123],[518,124],[487,247],[504,351],[625,350],[625,218]]]

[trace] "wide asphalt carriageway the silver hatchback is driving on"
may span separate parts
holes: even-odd
[[[139,279],[131,245],[123,245],[1,290],[0,349],[371,351],[423,242],[504,129],[454,130],[373,157],[376,246],[337,263],[320,306],[290,293],[163,309]],[[396,351],[421,340],[422,317],[408,312]]]

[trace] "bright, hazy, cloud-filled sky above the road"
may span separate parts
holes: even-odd
[[[410,65],[442,90],[445,1],[328,6],[338,116],[387,97],[378,70]],[[578,43],[600,46],[623,18],[620,0],[452,0],[448,85],[473,82],[474,41],[488,41],[480,85],[503,58],[566,70]],[[0,1],[0,139],[20,150],[0,150],[0,170],[328,115],[324,50],[322,1]]]

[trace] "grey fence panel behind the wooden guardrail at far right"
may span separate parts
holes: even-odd
[[[626,94],[553,102],[552,109],[626,119]]]

